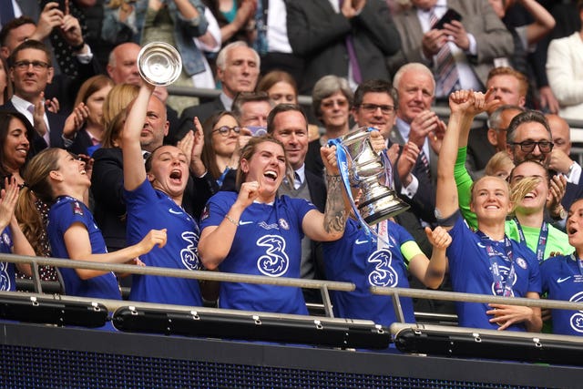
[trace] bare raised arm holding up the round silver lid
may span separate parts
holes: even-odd
[[[148,101],[152,96],[154,87],[146,82],[139,87],[138,97],[128,107],[128,118],[124,124],[122,133],[123,139],[123,163],[124,163],[124,188],[133,190],[138,188],[146,179],[146,168],[142,148],[139,144],[139,137],[146,114],[148,111]]]

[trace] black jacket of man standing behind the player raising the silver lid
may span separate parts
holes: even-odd
[[[121,148],[99,148],[93,154],[95,162],[91,174],[91,192],[95,200],[93,212],[97,226],[110,251],[126,247],[126,202],[124,200],[124,173]],[[210,196],[216,192],[210,174],[199,179],[189,178],[182,207],[199,219]]]

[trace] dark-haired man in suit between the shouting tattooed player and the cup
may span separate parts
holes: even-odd
[[[267,118],[267,132],[283,143],[288,162],[292,165],[292,178],[286,179],[278,190],[279,195],[305,199],[312,202],[318,210],[326,206],[326,185],[321,176],[305,169],[308,152],[308,119],[302,108],[293,104],[280,104],[271,109]],[[302,278],[322,279],[322,248],[319,242],[308,238],[302,240]],[[319,293],[315,290],[304,291],[308,302],[317,302]]]

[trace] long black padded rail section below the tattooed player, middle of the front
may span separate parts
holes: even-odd
[[[120,307],[113,314],[119,331],[215,337],[243,341],[305,343],[341,348],[386,349],[388,329],[368,321],[292,319],[265,314],[161,311]]]

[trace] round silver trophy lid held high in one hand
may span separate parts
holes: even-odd
[[[164,87],[180,76],[182,58],[176,48],[166,42],[148,43],[139,50],[138,70],[148,84]]]

